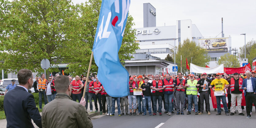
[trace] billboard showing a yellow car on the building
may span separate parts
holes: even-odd
[[[228,52],[229,37],[199,39],[198,41],[206,52]]]

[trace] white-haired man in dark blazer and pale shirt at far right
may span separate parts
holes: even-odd
[[[250,100],[253,104],[256,104],[256,78],[251,77],[251,72],[246,71],[246,79],[243,80],[242,89],[244,91],[245,102],[246,102],[246,113],[247,119],[251,118],[250,110],[252,105],[250,104]]]

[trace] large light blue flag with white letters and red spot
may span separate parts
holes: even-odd
[[[129,74],[118,57],[130,0],[102,0],[93,55],[98,66],[97,77],[109,96],[129,95]]]

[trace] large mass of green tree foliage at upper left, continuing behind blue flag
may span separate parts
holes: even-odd
[[[2,32],[4,34],[0,33],[4,37],[0,46],[6,51],[0,53],[0,61],[3,61],[0,66],[8,69],[8,72],[27,68],[40,73],[43,72],[40,62],[47,58],[52,65],[48,73],[59,72],[53,65],[64,63],[69,67],[66,73],[85,74],[90,62],[100,7],[101,0],[89,0],[77,5],[73,5],[71,0],[10,2],[3,7],[8,13],[4,16],[8,18],[1,20],[5,31]],[[120,60],[130,59],[127,55],[138,49],[135,30],[131,29],[134,24],[132,20],[129,16],[119,51]],[[97,66],[93,61],[91,72],[96,71]]]

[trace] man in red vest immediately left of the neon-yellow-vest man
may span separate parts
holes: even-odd
[[[183,107],[184,107],[184,100],[185,100],[185,80],[182,78],[182,73],[178,73],[178,78],[174,80],[173,83],[174,87],[176,88],[176,108],[177,108],[177,114],[176,115],[184,115],[183,113]],[[181,104],[181,108],[180,108]]]

